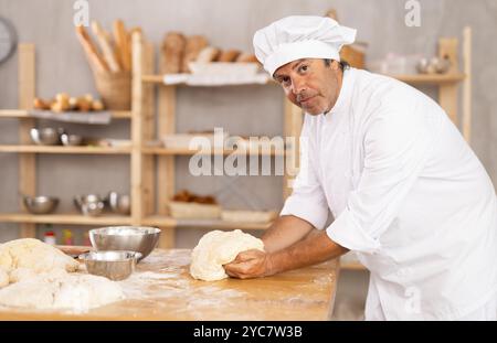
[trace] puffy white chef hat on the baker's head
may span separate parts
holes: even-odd
[[[340,49],[356,40],[356,30],[338,24],[328,17],[286,17],[254,34],[257,60],[273,76],[289,62],[300,58],[340,61]]]

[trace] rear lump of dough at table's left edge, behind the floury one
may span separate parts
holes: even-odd
[[[34,238],[22,238],[0,245],[0,268],[6,272],[28,268],[35,274],[65,269],[76,271],[80,264],[57,248]]]

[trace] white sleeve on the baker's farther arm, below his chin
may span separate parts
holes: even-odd
[[[300,170],[279,215],[294,215],[322,229],[328,219],[328,204],[316,174],[315,143],[309,130],[310,120],[306,115],[300,133]]]

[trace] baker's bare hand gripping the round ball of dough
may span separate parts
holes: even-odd
[[[276,272],[271,255],[256,249],[240,253],[223,267],[229,276],[240,279],[262,278]]]

